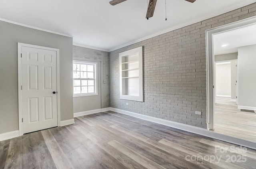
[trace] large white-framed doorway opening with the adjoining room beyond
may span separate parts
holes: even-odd
[[[256,17],[206,31],[208,129],[256,142]]]

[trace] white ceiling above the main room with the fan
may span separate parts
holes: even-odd
[[[246,6],[256,0],[158,0],[146,20],[147,0],[0,0],[0,18],[73,37],[82,46],[112,51]]]

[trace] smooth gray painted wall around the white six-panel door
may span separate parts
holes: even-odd
[[[73,39],[0,21],[0,134],[18,130],[18,42],[60,49],[60,120],[72,119]]]

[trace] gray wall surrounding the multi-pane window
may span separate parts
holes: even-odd
[[[73,46],[73,59],[98,63],[98,95],[74,97],[74,113],[109,107],[109,53]]]

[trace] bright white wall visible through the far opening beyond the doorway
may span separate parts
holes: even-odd
[[[216,96],[231,97],[231,62],[216,64]]]

